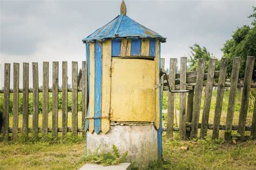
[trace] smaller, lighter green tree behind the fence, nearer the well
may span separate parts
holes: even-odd
[[[215,56],[208,52],[206,47],[201,48],[198,44],[194,44],[193,47],[190,47],[191,53],[189,54],[188,59],[188,70],[196,71],[198,68],[198,61],[200,58],[205,59],[205,73],[208,72],[209,61],[211,58],[215,58]],[[217,59],[215,70],[219,69],[220,61]]]

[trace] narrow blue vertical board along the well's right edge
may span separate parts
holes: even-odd
[[[161,68],[161,45],[159,42],[159,69]],[[159,82],[161,82],[161,77],[159,77]],[[161,97],[161,87],[159,87],[159,107],[160,107],[160,124],[157,130],[157,141],[158,141],[158,155],[160,159],[163,159],[163,144],[162,144],[162,97]]]

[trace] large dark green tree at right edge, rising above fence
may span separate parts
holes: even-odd
[[[231,76],[233,58],[235,56],[240,56],[241,58],[239,78],[244,77],[247,56],[256,56],[256,7],[253,7],[253,11],[254,13],[248,17],[254,18],[252,27],[248,25],[238,27],[233,32],[232,38],[227,40],[224,47],[221,48],[223,56],[228,59],[228,77]]]

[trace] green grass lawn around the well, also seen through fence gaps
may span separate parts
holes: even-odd
[[[221,124],[225,124],[228,102],[228,91],[225,91]],[[254,95],[250,98],[247,124],[251,124]],[[216,91],[213,91],[210,123],[213,123]],[[177,114],[179,110],[179,95],[177,95]],[[234,124],[238,124],[241,93],[237,93],[235,104]],[[164,93],[163,109],[166,109],[167,93]],[[203,110],[204,96],[201,102]],[[62,116],[59,112],[59,127]],[[165,114],[164,114],[165,115]],[[179,116],[178,116],[179,118]],[[78,113],[78,126],[81,126],[81,112]],[[29,126],[32,125],[32,116],[29,117]],[[201,118],[200,118],[201,121]],[[71,126],[71,113],[69,113],[69,127]],[[178,120],[179,122],[179,120]],[[164,124],[166,120],[164,120]],[[10,126],[12,117],[10,116]],[[22,117],[19,117],[19,127],[22,126]],[[42,126],[42,115],[39,115],[39,127]],[[51,127],[51,113],[49,114]],[[247,132],[248,133],[248,132]],[[211,134],[211,130],[208,130]],[[10,134],[11,135],[11,134]],[[70,135],[70,134],[69,134]],[[85,139],[82,134],[78,137],[68,136],[54,139],[50,137],[19,138],[17,141],[0,141],[0,169],[78,169],[84,162]],[[61,135],[59,135],[61,136]],[[174,139],[166,139],[163,132],[163,162],[152,162],[149,169],[256,169],[256,141],[248,140],[245,143],[224,143],[224,131],[220,131],[220,139],[180,141],[178,132],[174,132]],[[2,134],[0,134],[0,139]],[[187,146],[185,151],[181,146]]]

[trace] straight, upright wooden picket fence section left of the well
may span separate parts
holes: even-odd
[[[68,62],[62,62],[62,88],[59,88],[59,62],[52,62],[52,89],[49,89],[49,62],[43,62],[43,87],[38,86],[38,63],[32,63],[33,88],[29,89],[29,63],[23,63],[23,88],[19,89],[19,63],[14,63],[14,88],[10,89],[10,63],[4,65],[4,108],[3,108],[3,137],[16,138],[19,132],[28,134],[38,132],[57,137],[58,132],[65,135],[67,132],[77,135],[84,132],[85,116],[87,110],[87,73],[86,61],[82,61],[82,78],[78,87],[78,62],[72,61],[72,88],[68,88]],[[72,93],[72,127],[68,127],[68,92]],[[78,128],[78,91],[82,91],[82,126]],[[58,93],[62,92],[62,128],[58,128]],[[13,121],[9,128],[9,102],[10,93],[13,93]],[[18,128],[19,93],[23,94],[22,128]],[[29,128],[29,93],[33,93],[32,129]],[[42,96],[42,128],[38,127],[39,93]],[[52,127],[48,127],[49,93],[52,93]]]

